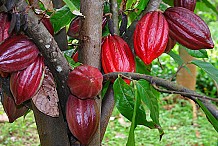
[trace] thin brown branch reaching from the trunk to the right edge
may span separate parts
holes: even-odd
[[[151,84],[155,84],[156,86],[160,86],[160,87],[163,87],[163,88],[171,90],[171,91],[177,91],[181,95],[184,95],[185,97],[187,97],[195,102],[197,99],[199,99],[200,101],[202,101],[204,103],[204,105],[211,112],[211,114],[216,119],[218,119],[218,109],[207,100],[207,99],[210,99],[210,97],[201,96],[193,90],[189,90],[183,86],[177,85],[177,84],[170,82],[168,80],[158,78],[158,77],[153,77],[150,75],[139,74],[139,73],[129,73],[129,72],[108,73],[108,74],[104,75],[104,81],[115,80],[118,77],[118,75],[122,75],[122,76],[125,76],[128,78],[134,79],[134,80],[144,79]],[[201,98],[198,98],[198,97],[201,97]]]

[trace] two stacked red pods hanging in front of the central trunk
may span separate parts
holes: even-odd
[[[68,75],[70,96],[66,104],[66,118],[71,133],[82,145],[87,145],[99,125],[99,109],[94,97],[102,89],[103,76],[92,66],[81,65]]]

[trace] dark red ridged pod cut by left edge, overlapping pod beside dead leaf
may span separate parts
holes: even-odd
[[[0,70],[14,72],[25,69],[38,54],[37,46],[27,36],[11,36],[0,45]]]

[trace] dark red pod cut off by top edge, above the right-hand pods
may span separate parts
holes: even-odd
[[[195,10],[196,0],[174,0],[174,7],[183,7],[191,11]]]

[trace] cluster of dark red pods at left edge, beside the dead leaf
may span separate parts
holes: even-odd
[[[45,64],[34,42],[24,34],[9,34],[11,21],[0,13],[0,74],[10,78],[10,91],[3,92],[3,107],[13,122],[27,111],[22,103],[31,99],[41,86]],[[51,27],[49,21],[43,21]],[[52,29],[50,29],[52,34]]]

